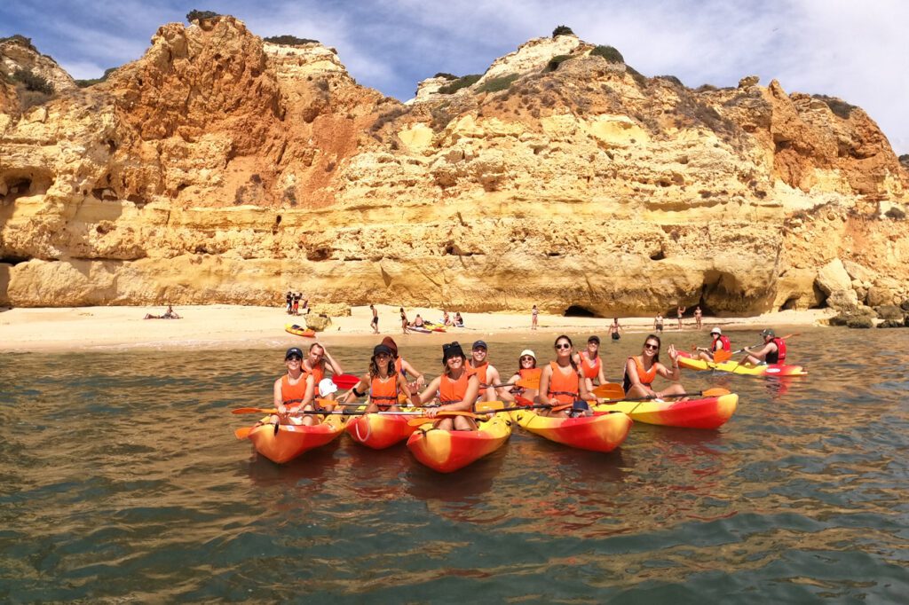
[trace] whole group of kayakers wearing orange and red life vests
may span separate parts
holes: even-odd
[[[742,351],[748,356],[743,363],[783,362],[784,340],[777,338],[771,329],[761,335],[764,346],[755,350],[745,347]],[[705,361],[712,361],[720,351],[731,352],[731,342],[720,328],[714,328],[711,336],[710,348],[701,349],[696,355]],[[397,412],[401,410],[400,405],[421,406],[435,400],[435,406],[425,408],[426,416],[438,418],[437,428],[454,431],[476,430],[474,419],[467,415],[440,415],[440,412],[472,412],[478,401],[537,404],[541,406],[538,413],[548,416],[590,415],[589,404],[597,401],[594,384],[607,383],[599,354],[599,337],[588,338],[586,347],[578,352],[574,351],[571,338],[564,334],[555,339],[553,346],[554,360],[542,367],[538,367],[532,350],[522,351],[514,374],[503,382],[502,375],[489,362],[486,342],[474,342],[469,358],[459,342],[448,342],[442,346],[442,373],[426,383],[424,374],[406,362],[398,354],[395,341],[386,336],[375,345],[368,371],[356,377],[355,384],[337,401],[337,386],[327,373],[340,376],[343,370],[325,345],[315,342],[305,355],[301,349],[291,347],[285,352],[287,372],[275,381],[277,413],[268,422],[275,425],[275,431],[280,422],[312,425],[318,422],[318,412],[331,411],[337,404],[352,404],[362,397],[367,397],[365,412]],[[680,353],[670,344],[666,350],[668,364],[665,364],[660,361],[661,348],[659,336],[649,334],[640,354],[625,360],[622,390],[627,398],[684,395]],[[653,386],[658,375],[670,382],[662,391]]]

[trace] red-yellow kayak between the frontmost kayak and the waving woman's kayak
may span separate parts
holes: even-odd
[[[533,410],[515,410],[511,415],[514,422],[527,431],[549,441],[590,451],[613,451],[628,436],[632,425],[626,414],[567,418],[541,416]]]

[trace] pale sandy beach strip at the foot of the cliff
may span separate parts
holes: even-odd
[[[462,313],[464,328],[449,328],[445,333],[404,335],[398,307],[377,305],[379,329],[399,343],[421,344],[471,340],[481,335],[496,340],[523,339],[530,335],[557,335],[591,332],[605,337],[611,320],[587,317],[539,316],[539,328],[531,332],[530,312]],[[76,352],[125,349],[270,349],[301,342],[299,336],[285,332],[285,324],[305,324],[305,316],[288,315],[279,307],[236,305],[178,306],[181,319],[143,319],[146,313],[161,315],[164,307],[64,307],[8,309],[0,311],[0,351],[2,352]],[[419,313],[425,320],[438,322],[442,312],[430,308],[407,308],[413,320]],[[784,311],[748,318],[704,317],[704,340],[713,326],[724,330],[754,329],[765,326],[819,325],[829,310]],[[336,317],[317,334],[326,344],[372,345],[375,336],[369,322],[369,307],[354,307],[349,317]],[[653,332],[652,317],[620,318],[628,334]],[[665,332],[677,331],[677,322],[666,319]],[[684,318],[684,331],[697,333],[694,319]],[[305,342],[312,342],[305,339]]]

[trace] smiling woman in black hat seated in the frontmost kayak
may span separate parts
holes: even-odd
[[[429,408],[426,415],[435,418],[438,412],[470,412],[474,409],[480,392],[480,381],[467,367],[467,356],[458,342],[442,345],[442,375],[433,379],[419,395],[419,402],[438,399],[437,408]],[[476,422],[468,416],[444,417],[435,422],[436,429],[444,431],[476,431]]]

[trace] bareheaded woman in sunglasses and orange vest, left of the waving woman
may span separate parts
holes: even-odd
[[[571,339],[559,336],[555,339],[555,361],[549,362],[540,374],[540,392],[536,402],[544,405],[570,405],[560,412],[545,410],[544,416],[590,416],[593,412],[587,402],[595,402],[596,396],[587,391],[584,376],[572,357]]]

